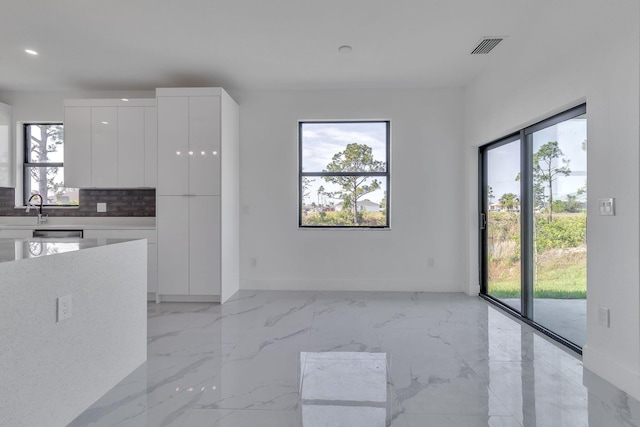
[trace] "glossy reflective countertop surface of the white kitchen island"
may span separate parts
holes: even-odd
[[[0,239],[0,263],[39,258],[137,239]]]

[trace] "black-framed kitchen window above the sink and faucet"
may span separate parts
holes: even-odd
[[[78,189],[64,186],[64,130],[60,123],[24,125],[23,202],[40,194],[45,206],[78,205]]]

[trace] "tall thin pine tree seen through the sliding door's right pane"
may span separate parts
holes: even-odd
[[[562,158],[563,153],[558,147],[557,141],[549,141],[542,145],[533,155],[533,185],[534,192],[544,187],[549,189],[547,207],[549,210],[549,222],[553,221],[553,183],[558,176],[571,174],[569,160]],[[560,161],[556,161],[560,159]],[[562,163],[562,166],[558,166]]]

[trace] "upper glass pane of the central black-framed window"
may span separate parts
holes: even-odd
[[[385,172],[387,124],[302,123],[303,172]]]

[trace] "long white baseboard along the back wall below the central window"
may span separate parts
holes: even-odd
[[[240,289],[270,291],[391,291],[391,292],[464,292],[461,283],[426,283],[418,280],[240,280]]]

